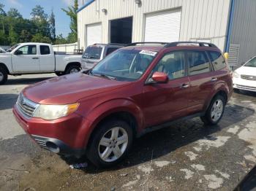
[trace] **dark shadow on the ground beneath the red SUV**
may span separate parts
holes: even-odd
[[[83,171],[89,174],[96,174],[101,171],[116,171],[121,168],[129,168],[129,166],[138,165],[168,155],[170,152],[199,139],[214,140],[216,138],[211,136],[211,134],[230,127],[236,124],[236,122],[241,122],[241,120],[244,120],[253,114],[255,114],[255,110],[253,109],[238,105],[227,105],[225,114],[221,122],[219,122],[219,125],[211,127],[205,126],[198,117],[192,120],[177,122],[170,128],[163,128],[148,133],[140,139],[136,139],[132,151],[129,153],[126,160],[121,164],[116,165],[115,168],[98,169],[95,168],[94,165],[89,165],[89,167]],[[62,158],[69,165],[73,163],[82,163],[86,160],[85,158],[80,160],[72,157]]]

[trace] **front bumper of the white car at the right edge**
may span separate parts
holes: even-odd
[[[241,78],[233,78],[233,88],[256,92],[256,81]]]

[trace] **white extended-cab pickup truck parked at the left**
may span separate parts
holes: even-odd
[[[53,51],[51,44],[20,43],[0,54],[0,85],[8,75],[56,73],[58,76],[80,71],[82,55]]]

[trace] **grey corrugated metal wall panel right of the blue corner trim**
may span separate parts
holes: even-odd
[[[240,44],[238,66],[256,55],[256,1],[235,0],[230,44]]]

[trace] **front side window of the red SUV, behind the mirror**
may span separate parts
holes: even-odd
[[[169,79],[177,79],[185,76],[185,55],[183,51],[169,52],[165,54],[153,71],[165,72]]]

